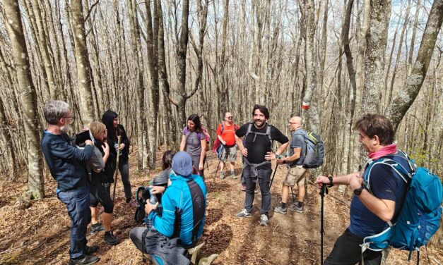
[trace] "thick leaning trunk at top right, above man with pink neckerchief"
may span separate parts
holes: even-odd
[[[423,33],[422,42],[418,55],[415,60],[413,69],[406,80],[406,85],[400,91],[398,96],[391,101],[387,110],[386,116],[391,120],[394,130],[397,130],[406,111],[413,104],[413,101],[420,92],[420,88],[425,80],[427,68],[435,48],[437,36],[442,27],[443,21],[443,0],[435,0],[427,19],[425,32]]]

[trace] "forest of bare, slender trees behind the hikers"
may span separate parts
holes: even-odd
[[[117,111],[138,171],[178,147],[189,114],[215,135],[225,111],[246,123],[265,104],[278,128],[297,114],[322,135],[322,171],[358,167],[353,121],[377,112],[443,175],[443,0],[3,0],[0,12],[0,173],[31,198],[45,196],[49,99],[71,105],[73,132]]]

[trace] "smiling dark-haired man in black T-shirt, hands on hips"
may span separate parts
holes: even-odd
[[[289,144],[289,140],[280,130],[266,123],[269,118],[269,111],[266,106],[255,105],[252,114],[254,122],[242,125],[235,132],[235,142],[237,142],[237,146],[244,156],[243,175],[246,180],[244,209],[237,214],[237,217],[251,217],[254,189],[258,182],[261,192],[260,225],[267,226],[268,210],[271,206],[269,187],[272,172],[271,160],[276,159],[283,153]],[[245,137],[245,145],[243,145],[240,137]],[[271,152],[273,140],[277,140],[281,144],[275,154]]]

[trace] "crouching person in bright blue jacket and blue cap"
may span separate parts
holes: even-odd
[[[189,264],[184,252],[203,234],[206,186],[201,176],[192,174],[192,159],[186,152],[175,154],[172,171],[162,197],[162,216],[156,211],[158,203],[148,202],[145,209],[152,228],[133,228],[129,237],[158,264]]]

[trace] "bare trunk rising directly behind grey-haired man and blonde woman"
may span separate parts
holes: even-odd
[[[80,115],[83,126],[94,120],[93,97],[90,83],[90,64],[86,47],[85,19],[81,0],[72,0],[69,6],[72,15],[71,27],[75,46],[77,83],[80,94]]]

